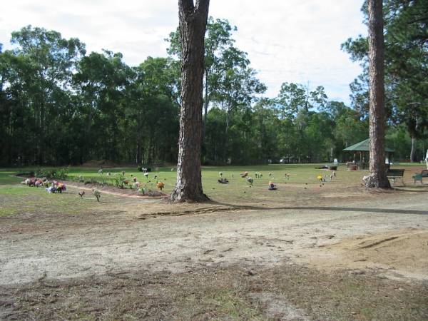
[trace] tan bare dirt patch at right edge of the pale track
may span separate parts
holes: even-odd
[[[428,230],[405,229],[356,235],[314,251],[312,266],[324,270],[383,269],[389,277],[428,280]]]

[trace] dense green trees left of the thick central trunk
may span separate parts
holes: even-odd
[[[86,56],[78,39],[27,26],[0,56],[4,164],[174,161],[176,90],[168,58],[131,68]]]

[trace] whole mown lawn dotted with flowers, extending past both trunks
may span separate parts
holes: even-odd
[[[361,198],[362,176],[367,175],[367,171],[349,171],[345,165],[340,165],[336,171],[336,176],[330,180],[332,171],[318,169],[324,164],[288,164],[288,165],[248,165],[248,166],[206,166],[203,167],[203,190],[211,200],[225,204],[247,204],[262,206],[290,205],[295,203],[305,205],[317,205],[334,198]],[[407,185],[413,185],[412,175],[416,171],[424,168],[421,164],[399,164],[395,168],[406,168],[404,181]],[[19,185],[23,178],[15,175],[19,172],[29,172],[37,168],[14,168],[0,169],[0,195],[9,195],[14,198],[11,203],[19,202],[20,196],[39,195],[41,199],[52,199],[58,203],[60,200],[56,195],[48,195],[42,188],[27,188]],[[46,168],[46,170],[55,168]],[[60,168],[56,168],[60,169]],[[170,193],[176,180],[176,168],[163,167],[153,168],[148,173],[148,177],[136,168],[103,168],[103,173],[99,174],[99,168],[86,168],[81,166],[68,167],[68,178],[70,184],[80,176],[83,180],[93,180],[99,183],[114,184],[116,174],[125,172],[126,178],[130,181],[133,177],[146,185],[147,188],[156,190],[156,182],[165,184],[163,192]],[[248,175],[253,178],[253,186],[245,178],[240,177],[240,173],[248,171]],[[223,178],[229,180],[228,184],[218,183],[220,173]],[[258,173],[261,178],[255,178]],[[156,175],[156,177],[155,177]],[[326,181],[320,183],[317,176],[326,176]],[[268,182],[277,184],[277,190],[268,190]],[[31,192],[30,192],[31,190]],[[69,189],[68,193],[77,193],[74,189]],[[66,193],[68,195],[68,193]],[[90,192],[89,192],[90,193]],[[355,194],[358,195],[355,195]],[[66,202],[68,196],[61,198],[61,202]],[[4,199],[4,198],[3,198]],[[103,198],[105,200],[106,198]],[[70,200],[75,201],[75,195]],[[42,201],[43,203],[44,201]],[[36,202],[37,204],[37,202]],[[10,206],[9,206],[10,208]],[[2,215],[12,213],[11,210],[1,210]]]

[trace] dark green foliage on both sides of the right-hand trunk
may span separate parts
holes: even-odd
[[[388,137],[400,156],[405,154],[417,161],[424,154],[422,149],[428,147],[428,1],[384,0],[383,5]],[[362,11],[367,18],[367,3]],[[367,38],[348,39],[342,49],[364,68],[351,89],[352,103],[365,117],[368,111]],[[412,143],[403,154],[399,137],[404,129]]]

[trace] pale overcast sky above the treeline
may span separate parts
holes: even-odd
[[[238,27],[236,46],[276,96],[282,82],[325,86],[330,99],[349,103],[360,73],[340,51],[350,36],[367,34],[363,0],[210,0],[210,16]],[[77,37],[90,51],[119,51],[130,65],[166,56],[164,39],[178,25],[177,0],[1,0],[0,43],[31,24]]]

